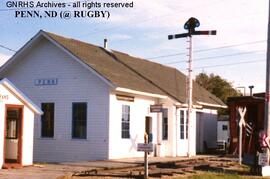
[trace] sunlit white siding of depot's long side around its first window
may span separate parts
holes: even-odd
[[[125,94],[131,95],[131,94]],[[135,95],[131,95],[135,96]],[[143,157],[143,152],[137,152],[137,143],[144,142],[145,118],[152,118],[153,143],[157,144],[157,115],[150,113],[150,105],[155,104],[154,98],[136,95],[134,102],[117,100],[115,94],[110,95],[110,147],[109,158]],[[130,138],[121,138],[121,111],[122,105],[130,106]],[[152,153],[152,155],[154,155]]]

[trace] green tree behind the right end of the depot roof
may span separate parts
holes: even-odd
[[[195,81],[207,89],[209,92],[220,98],[224,103],[227,103],[228,97],[241,96],[241,93],[233,88],[232,83],[218,75],[211,73],[207,75],[200,73],[196,76]],[[227,114],[227,110],[219,110],[219,114]]]

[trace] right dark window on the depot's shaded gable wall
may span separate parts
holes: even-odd
[[[72,138],[86,139],[87,103],[72,104]]]

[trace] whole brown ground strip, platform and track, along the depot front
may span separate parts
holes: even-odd
[[[240,166],[237,159],[229,157],[153,157],[149,162],[149,176],[152,178],[192,176],[204,171],[249,175],[249,168]],[[1,179],[142,178],[143,174],[143,158],[36,164],[22,169],[0,170]]]

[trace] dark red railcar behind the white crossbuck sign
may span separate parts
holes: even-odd
[[[239,149],[239,107],[246,108],[244,116],[248,124],[243,127],[242,153],[243,155],[256,155],[258,150],[258,134],[264,129],[264,105],[265,93],[252,96],[240,96],[228,98],[230,111],[230,148],[229,153],[238,153]]]

